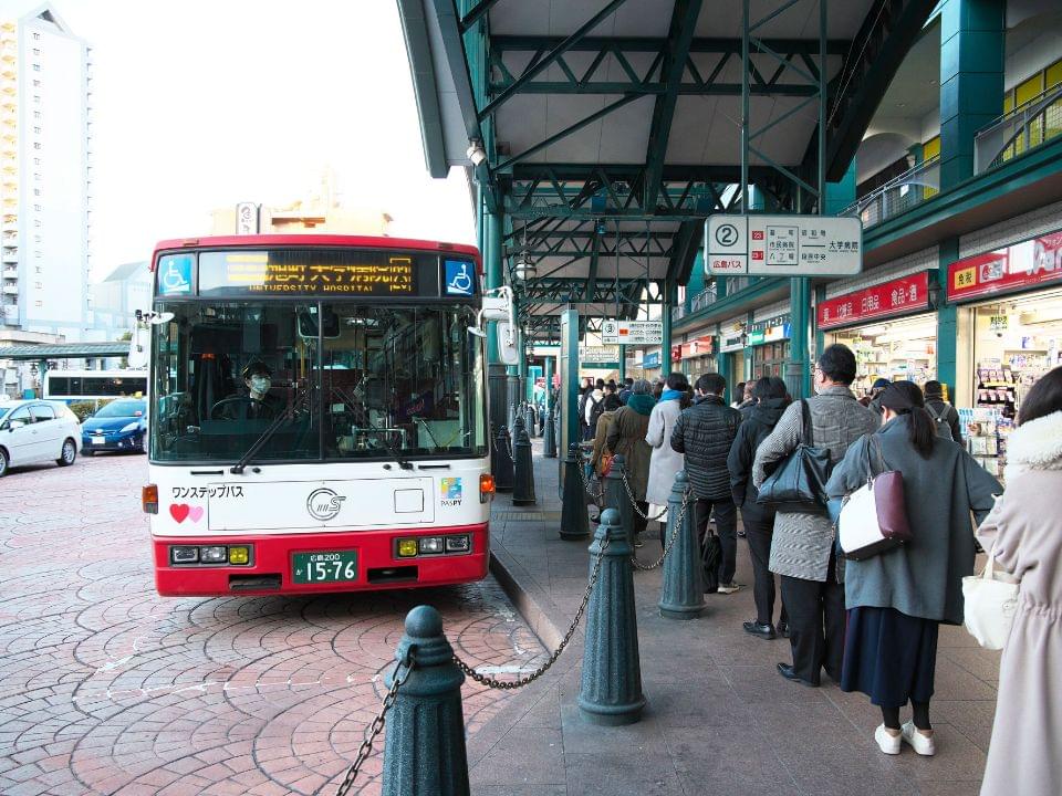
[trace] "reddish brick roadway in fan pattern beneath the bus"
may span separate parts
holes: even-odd
[[[468,660],[543,649],[493,579],[323,597],[163,599],[144,457],[0,481],[0,794],[331,794],[383,698],[403,618],[441,612]],[[475,742],[510,692],[465,687]],[[377,750],[383,748],[383,739]],[[358,793],[377,794],[379,756]]]

